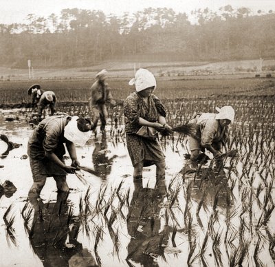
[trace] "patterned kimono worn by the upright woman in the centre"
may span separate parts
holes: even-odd
[[[155,164],[165,159],[164,153],[157,140],[148,140],[137,136],[137,131],[142,127],[139,125],[139,118],[149,122],[157,122],[160,116],[166,116],[164,106],[157,96],[149,96],[149,103],[146,105],[136,92],[130,94],[123,105],[125,116],[125,132],[127,149],[133,166],[144,161],[144,167]]]

